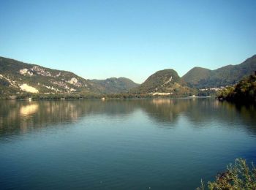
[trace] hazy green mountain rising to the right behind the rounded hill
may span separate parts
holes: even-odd
[[[227,65],[215,70],[194,67],[182,78],[191,87],[214,88],[236,84],[244,76],[251,75],[255,70],[256,55],[247,58],[241,64]]]

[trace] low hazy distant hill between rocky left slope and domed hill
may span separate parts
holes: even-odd
[[[126,93],[132,88],[139,86],[137,83],[125,77],[111,77],[106,80],[90,80],[99,91],[105,94]]]

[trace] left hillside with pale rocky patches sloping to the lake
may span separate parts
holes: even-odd
[[[88,80],[66,72],[0,57],[0,88],[31,93],[98,92]]]

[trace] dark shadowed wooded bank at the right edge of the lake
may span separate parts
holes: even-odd
[[[238,103],[256,103],[256,75],[250,75],[236,86],[225,88],[218,99]]]

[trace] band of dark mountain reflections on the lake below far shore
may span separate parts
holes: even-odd
[[[135,110],[142,110],[151,121],[159,123],[159,127],[172,127],[178,118],[186,117],[195,127],[206,127],[206,121],[222,121],[243,123],[247,129],[256,132],[256,111],[252,106],[238,107],[214,99],[136,99],[1,101],[0,135],[72,123],[89,115],[130,115]]]

